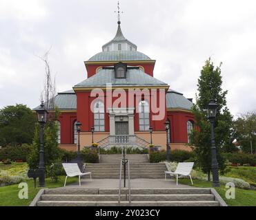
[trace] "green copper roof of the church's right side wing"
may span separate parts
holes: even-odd
[[[191,110],[193,102],[190,102],[183,94],[170,89],[166,94],[166,107],[168,109]]]

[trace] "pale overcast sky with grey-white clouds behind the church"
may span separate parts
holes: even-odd
[[[121,0],[121,29],[157,60],[155,78],[195,98],[208,57],[221,67],[233,113],[256,109],[255,0]],[[87,76],[83,61],[117,31],[117,0],[0,0],[0,108],[36,107],[50,47],[57,91]]]

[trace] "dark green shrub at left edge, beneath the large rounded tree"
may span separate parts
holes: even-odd
[[[22,146],[6,146],[0,149],[0,161],[10,159],[12,161],[22,160],[26,162],[26,157],[32,151],[32,146],[22,144]]]

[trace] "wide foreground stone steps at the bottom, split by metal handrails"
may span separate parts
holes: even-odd
[[[131,206],[226,206],[212,188],[131,189]],[[117,188],[42,189],[30,206],[118,206]],[[128,206],[128,189],[121,189],[120,206]]]

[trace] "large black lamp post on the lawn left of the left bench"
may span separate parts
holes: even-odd
[[[39,150],[39,187],[44,187],[45,184],[45,163],[44,163],[44,146],[43,146],[43,128],[46,124],[48,111],[44,108],[43,101],[38,109],[37,118],[40,125],[40,150]]]

